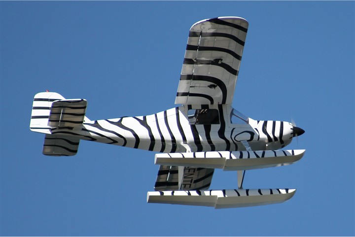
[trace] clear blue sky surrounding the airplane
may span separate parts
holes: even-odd
[[[154,153],[82,141],[41,154],[29,129],[46,89],[88,101],[92,119],[175,107],[189,28],[249,21],[233,105],[293,119],[306,149],[252,170],[245,188],[297,188],[286,203],[215,210],[148,204]],[[1,236],[354,236],[355,1],[0,1]],[[236,188],[216,170],[212,189]]]

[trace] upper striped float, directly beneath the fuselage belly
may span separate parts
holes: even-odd
[[[155,155],[155,164],[223,170],[263,169],[291,165],[304,153],[305,150],[162,153]]]

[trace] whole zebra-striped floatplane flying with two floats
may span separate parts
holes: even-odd
[[[80,140],[156,151],[160,165],[148,203],[242,207],[282,203],[295,189],[244,189],[245,170],[290,165],[305,150],[279,150],[304,130],[253,120],[232,107],[248,22],[218,17],[189,32],[175,103],[159,113],[92,121],[86,100],[36,94],[30,129],[44,133],[43,154],[75,155]],[[238,189],[209,190],[214,169],[237,170]]]

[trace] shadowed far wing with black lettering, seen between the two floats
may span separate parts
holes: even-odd
[[[214,169],[184,167],[181,176],[181,190],[208,189],[211,185],[213,172]],[[178,190],[178,176],[177,166],[159,166],[154,190]]]

